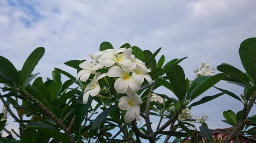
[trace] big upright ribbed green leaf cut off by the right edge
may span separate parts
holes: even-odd
[[[256,38],[248,38],[241,42],[239,55],[244,69],[256,81]]]

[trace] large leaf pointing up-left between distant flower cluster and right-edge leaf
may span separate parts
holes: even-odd
[[[230,77],[236,79],[237,81],[244,84],[249,84],[249,80],[247,79],[245,73],[230,64],[221,64],[217,67],[217,69],[223,73],[228,73]]]

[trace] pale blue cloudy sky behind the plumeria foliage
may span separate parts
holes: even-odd
[[[228,63],[244,71],[238,50],[244,39],[255,37],[255,5],[255,0],[1,0],[0,55],[20,70],[35,48],[44,47],[33,72],[40,72],[44,80],[54,67],[76,76],[76,70],[63,63],[90,59],[89,53],[104,41],[114,48],[128,42],[152,52],[162,47],[156,59],[164,54],[166,62],[188,56],[180,65],[190,80],[202,61],[213,67]],[[243,88],[225,81],[216,86],[243,94]],[[155,92],[175,97],[164,87]],[[216,93],[210,89],[196,100]],[[216,129],[229,127],[221,122],[223,111],[242,108],[239,101],[223,95],[193,107],[192,113],[208,115],[208,127]],[[249,115],[255,115],[255,109]],[[158,120],[151,118],[154,129]],[[8,129],[17,129],[11,116],[8,123]]]

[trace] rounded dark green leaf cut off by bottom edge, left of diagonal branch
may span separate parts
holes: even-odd
[[[26,128],[20,138],[22,143],[36,143],[36,130],[32,128]]]

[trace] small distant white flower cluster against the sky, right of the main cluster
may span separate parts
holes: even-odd
[[[202,62],[202,66],[200,68],[197,67],[196,70],[194,70],[194,73],[196,73],[195,78],[200,76],[213,76],[213,70],[215,70],[212,66],[209,64],[206,64],[206,62]]]

